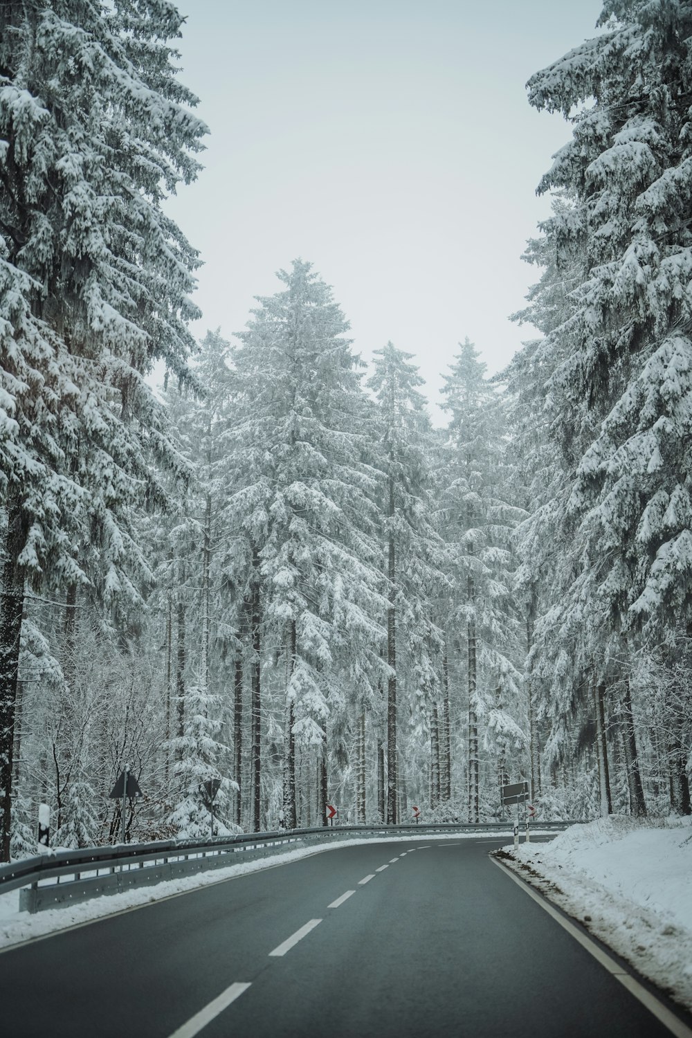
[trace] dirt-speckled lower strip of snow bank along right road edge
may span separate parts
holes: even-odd
[[[582,870],[514,845],[493,856],[561,908],[684,1009],[692,1011],[692,932],[607,890]]]

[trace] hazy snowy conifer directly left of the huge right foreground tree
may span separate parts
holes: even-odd
[[[557,217],[569,219],[566,198],[556,198],[553,208]],[[575,630],[583,633],[586,625],[583,617],[581,623],[578,617],[575,624],[566,622],[560,610],[581,569],[575,522],[566,506],[581,445],[591,432],[584,407],[577,428],[557,435],[565,408],[560,387],[552,382],[569,350],[569,343],[552,333],[571,313],[570,293],[584,269],[582,250],[575,246],[558,260],[553,221],[542,224],[542,231],[528,242],[524,258],[544,270],[528,294],[528,306],[514,320],[531,323],[544,337],[525,343],[503,373],[509,401],[510,493],[527,512],[514,537],[514,589],[525,628],[531,796],[538,808],[542,771],[548,769],[555,778],[557,764],[571,759],[579,741],[571,731],[585,687],[588,652],[578,651]],[[544,757],[546,745],[550,754]]]

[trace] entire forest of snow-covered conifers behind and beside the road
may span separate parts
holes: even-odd
[[[538,819],[689,814],[692,7],[606,3],[529,81],[569,141],[527,342],[494,379],[449,344],[441,429],[306,261],[194,340],[182,23],[0,6],[0,857],[41,802],[116,840],[126,764],[130,840],[205,836],[214,778],[221,835],[521,780]]]

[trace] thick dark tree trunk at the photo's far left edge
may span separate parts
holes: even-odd
[[[19,556],[27,532],[26,517],[19,509],[10,507],[0,597],[0,861],[3,862],[9,861],[15,709],[24,610],[24,573]]]

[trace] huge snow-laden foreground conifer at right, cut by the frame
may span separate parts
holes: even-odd
[[[554,333],[571,347],[554,381],[568,403],[562,428],[583,402],[597,425],[571,508],[600,558],[612,627],[670,640],[692,606],[692,11],[614,0],[601,24],[529,81],[531,104],[574,124],[542,188],[574,196],[554,233],[562,254],[577,240],[586,261]],[[679,767],[672,781],[689,813],[689,773]]]

